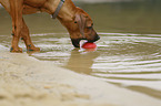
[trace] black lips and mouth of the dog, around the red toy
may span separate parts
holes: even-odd
[[[87,40],[87,39],[71,39],[71,42],[72,42],[74,47],[80,47],[80,41],[81,40]],[[95,42],[98,40],[100,40],[99,35],[97,35],[97,38],[94,40],[88,40],[88,42]]]

